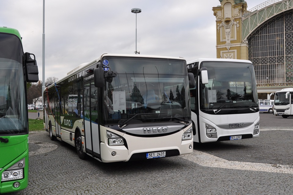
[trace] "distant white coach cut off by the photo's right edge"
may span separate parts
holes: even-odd
[[[293,88],[284,88],[275,93],[274,115],[282,115],[283,118],[293,116]]]

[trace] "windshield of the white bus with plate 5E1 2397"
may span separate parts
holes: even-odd
[[[201,67],[208,69],[208,84],[199,89],[201,109],[218,112],[220,109],[251,108],[256,111],[258,98],[252,64],[202,62]]]

